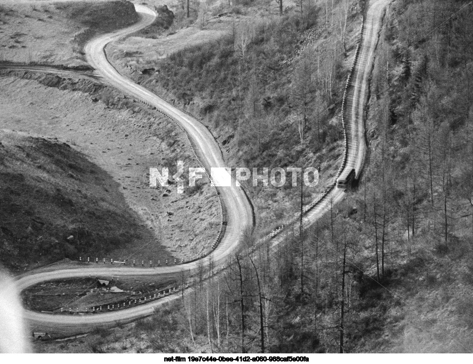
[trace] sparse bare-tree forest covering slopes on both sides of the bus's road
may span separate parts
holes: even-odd
[[[356,5],[335,3],[341,14]],[[328,13],[328,6],[314,10],[314,19]],[[286,230],[275,247],[255,246],[258,231],[246,232],[221,274],[212,276],[208,262],[210,281],[196,280],[177,305],[196,350],[196,342],[215,352],[473,349],[472,16],[465,1],[391,6],[376,50],[358,187],[309,229]],[[338,22],[333,53],[304,51],[291,78],[280,77],[287,68],[279,65],[307,26],[300,14],[240,26],[232,37],[172,55],[173,70],[161,67],[176,77],[164,87],[187,87],[188,102],[205,100],[212,127],[234,129],[242,159],[290,164],[289,155],[274,158],[276,147],[303,143],[317,152],[340,137],[328,120],[354,18],[338,19],[345,23]]]

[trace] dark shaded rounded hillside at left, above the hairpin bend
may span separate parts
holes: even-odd
[[[144,233],[118,184],[85,155],[13,132],[1,139],[0,256],[6,267],[76,259],[81,252],[102,255]]]

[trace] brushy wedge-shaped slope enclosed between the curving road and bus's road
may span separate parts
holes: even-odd
[[[260,5],[248,4],[247,13],[253,9],[257,13]],[[321,182],[304,192],[304,203],[309,203],[333,182],[338,169],[340,97],[360,21],[358,15],[348,19],[344,55],[336,19],[329,22],[327,32],[321,14],[321,9],[305,8],[302,17],[290,10],[282,18],[241,16],[240,23],[209,18],[219,24],[219,31],[226,27],[225,35],[193,46],[182,46],[187,44],[184,39],[177,44],[168,41],[174,35],[162,36],[169,42],[166,46],[180,47],[164,59],[156,57],[161,49],[159,37],[157,41],[146,39],[147,47],[154,50],[150,54],[136,47],[141,44],[139,34],[111,44],[108,52],[123,72],[202,120],[219,141],[229,165],[320,167]],[[204,31],[214,29],[210,20],[208,24]],[[244,49],[242,38],[246,39]],[[304,61],[281,65],[307,38],[316,50],[309,47],[302,52]],[[141,74],[146,69],[156,72]],[[307,123],[301,143],[302,101],[295,90],[308,79]],[[247,190],[256,205],[261,233],[298,211],[299,190],[250,185]]]

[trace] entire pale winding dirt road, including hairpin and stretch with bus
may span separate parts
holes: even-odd
[[[377,43],[379,30],[381,29],[381,20],[384,10],[390,0],[374,0],[371,2],[366,18],[362,36],[361,48],[358,60],[355,63],[355,71],[350,85],[348,100],[350,111],[347,112],[349,134],[347,168],[356,168],[357,176],[361,171],[365,155],[365,136],[364,136],[364,108],[368,98],[369,77],[374,60],[374,50]],[[204,159],[204,164],[208,167],[224,167],[224,162],[220,149],[207,128],[198,120],[174,108],[172,105],[147,90],[120,75],[112,65],[107,61],[104,47],[110,41],[125,34],[137,31],[151,24],[156,14],[142,5],[135,5],[136,11],[140,14],[140,21],[128,28],[115,33],[106,34],[92,39],[85,47],[87,61],[96,68],[100,75],[114,87],[122,92],[131,95],[140,100],[144,100],[152,106],[166,112],[176,119],[193,139],[197,149],[200,151],[200,157]],[[345,171],[344,170],[344,171]],[[342,171],[342,173],[344,172]],[[234,183],[233,183],[234,185]],[[337,203],[345,195],[345,191],[336,188],[330,188],[326,195],[311,210],[304,215],[304,225],[311,225],[319,219],[329,208],[330,203]],[[239,187],[224,187],[221,189],[221,198],[228,207],[228,226],[225,235],[218,247],[210,254],[211,259],[220,265],[225,262],[231,252],[238,246],[241,232],[247,227],[252,226],[253,216],[251,205],[244,193]],[[282,234],[276,235],[271,239],[275,246],[282,240]],[[43,269],[32,271],[24,276],[18,277],[16,283],[21,290],[34,284],[44,281],[97,276],[153,276],[153,277],[176,277],[182,271],[193,271],[198,269],[199,262],[192,262],[183,265],[157,267],[157,268],[73,268],[53,270]],[[162,304],[178,298],[179,295],[170,295],[165,298],[152,301],[146,304],[140,304],[127,309],[111,311],[99,315],[48,315],[40,314],[34,311],[25,310],[25,319],[30,328],[34,331],[50,332],[60,335],[72,335],[83,333],[94,328],[116,326],[119,323],[126,323],[140,317],[153,314]]]

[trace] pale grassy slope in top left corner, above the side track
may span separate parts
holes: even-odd
[[[137,19],[133,4],[124,0],[5,4],[0,6],[0,60],[83,65],[87,39]]]

